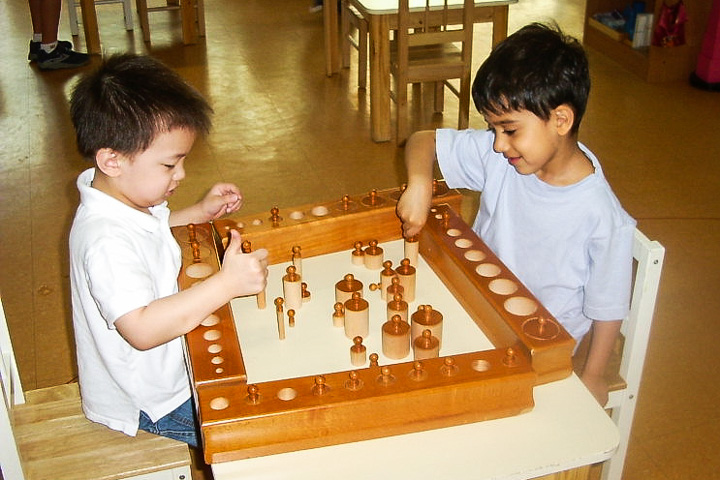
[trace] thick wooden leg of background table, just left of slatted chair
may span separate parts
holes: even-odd
[[[370,17],[370,125],[376,142],[390,140],[390,26],[387,17]]]

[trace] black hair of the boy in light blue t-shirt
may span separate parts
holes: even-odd
[[[590,93],[582,45],[556,26],[533,23],[498,44],[478,69],[472,97],[480,113],[528,110],[543,120],[562,104],[575,112],[578,131]]]

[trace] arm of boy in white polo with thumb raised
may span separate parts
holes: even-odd
[[[232,238],[218,273],[115,321],[118,332],[130,345],[138,350],[162,345],[188,333],[231,299],[265,288],[267,250],[242,253],[240,234],[235,230],[230,233]]]

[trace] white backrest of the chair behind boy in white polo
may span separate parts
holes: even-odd
[[[0,406],[0,472],[2,478],[24,479],[20,453],[12,430],[12,408],[25,403],[20,374],[10,341],[10,332],[5,319],[0,298],[0,387],[2,388],[2,406]]]

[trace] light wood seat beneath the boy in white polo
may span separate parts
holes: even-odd
[[[12,413],[28,479],[109,480],[175,469],[190,478],[185,443],[144,431],[129,437],[89,421],[76,383],[29,391],[25,397]]]

